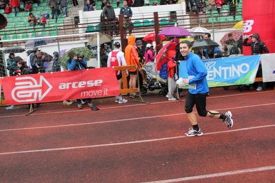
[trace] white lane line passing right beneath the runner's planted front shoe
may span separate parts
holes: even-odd
[[[232,133],[235,131],[244,131],[249,129],[260,129],[260,128],[270,128],[275,127],[275,125],[265,125],[265,126],[258,126],[258,127],[249,127],[243,129],[230,129],[227,131],[214,131],[210,133],[203,133],[204,136],[217,134],[217,133]],[[37,152],[45,152],[45,151],[62,151],[62,150],[71,150],[71,149],[87,149],[87,148],[94,148],[94,147],[110,147],[110,146],[117,146],[117,145],[125,145],[125,144],[137,144],[137,143],[144,143],[144,142],[156,142],[161,140],[172,140],[172,139],[179,139],[185,138],[185,136],[176,136],[170,138],[156,138],[150,140],[136,140],[132,142],[119,142],[119,143],[112,143],[112,144],[97,144],[97,145],[90,145],[90,146],[80,146],[80,147],[63,147],[63,148],[54,148],[54,149],[38,149],[38,150],[31,150],[31,151],[14,151],[14,152],[7,152],[7,153],[0,153],[0,155],[10,155],[10,154],[19,154],[19,153],[37,153]]]

